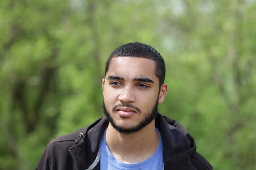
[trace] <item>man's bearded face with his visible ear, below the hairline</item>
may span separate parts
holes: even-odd
[[[165,86],[165,85],[163,85]],[[105,115],[119,132],[136,132],[154,120],[167,85],[159,90],[155,62],[138,57],[115,57],[102,80]]]

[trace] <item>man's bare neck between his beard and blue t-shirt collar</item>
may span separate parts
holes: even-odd
[[[124,163],[138,163],[150,158],[158,147],[160,137],[155,121],[133,133],[120,133],[109,123],[106,143],[111,154]]]

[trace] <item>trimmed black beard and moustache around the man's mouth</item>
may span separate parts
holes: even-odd
[[[133,106],[129,103],[125,104],[125,103],[121,103],[119,105],[116,105],[113,107],[112,110],[114,110],[115,108],[119,107],[119,106],[123,106],[123,107],[130,107],[130,108],[133,108],[135,110],[137,110],[140,114],[140,109],[137,108],[136,106]],[[145,126],[147,126],[149,123],[152,122],[152,120],[154,120],[156,118],[156,115],[158,113],[158,98],[155,102],[155,105],[153,106],[152,110],[149,111],[149,112],[146,112],[146,113],[143,113],[144,114],[144,119],[141,120],[138,125],[134,126],[134,127],[130,127],[130,128],[125,128],[125,127],[122,127],[122,126],[118,126],[116,123],[115,123],[115,120],[113,119],[113,117],[111,117],[110,113],[108,112],[108,110],[106,110],[106,106],[105,106],[105,101],[103,99],[103,111],[104,111],[104,114],[106,116],[106,118],[108,118],[108,121],[111,123],[111,125],[120,133],[126,133],[126,134],[129,134],[129,133],[133,133],[133,132],[138,132],[139,130],[141,130],[142,128],[144,128]]]

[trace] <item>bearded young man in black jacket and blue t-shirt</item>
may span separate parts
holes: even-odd
[[[187,130],[158,113],[164,78],[164,60],[154,48],[118,47],[102,80],[105,116],[52,140],[36,169],[212,169]]]

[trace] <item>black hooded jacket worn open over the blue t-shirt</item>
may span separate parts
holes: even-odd
[[[42,154],[36,169],[99,169],[100,138],[108,125],[106,117],[76,132],[53,139]],[[164,169],[212,169],[199,153],[187,130],[160,114],[156,127],[163,141]]]

